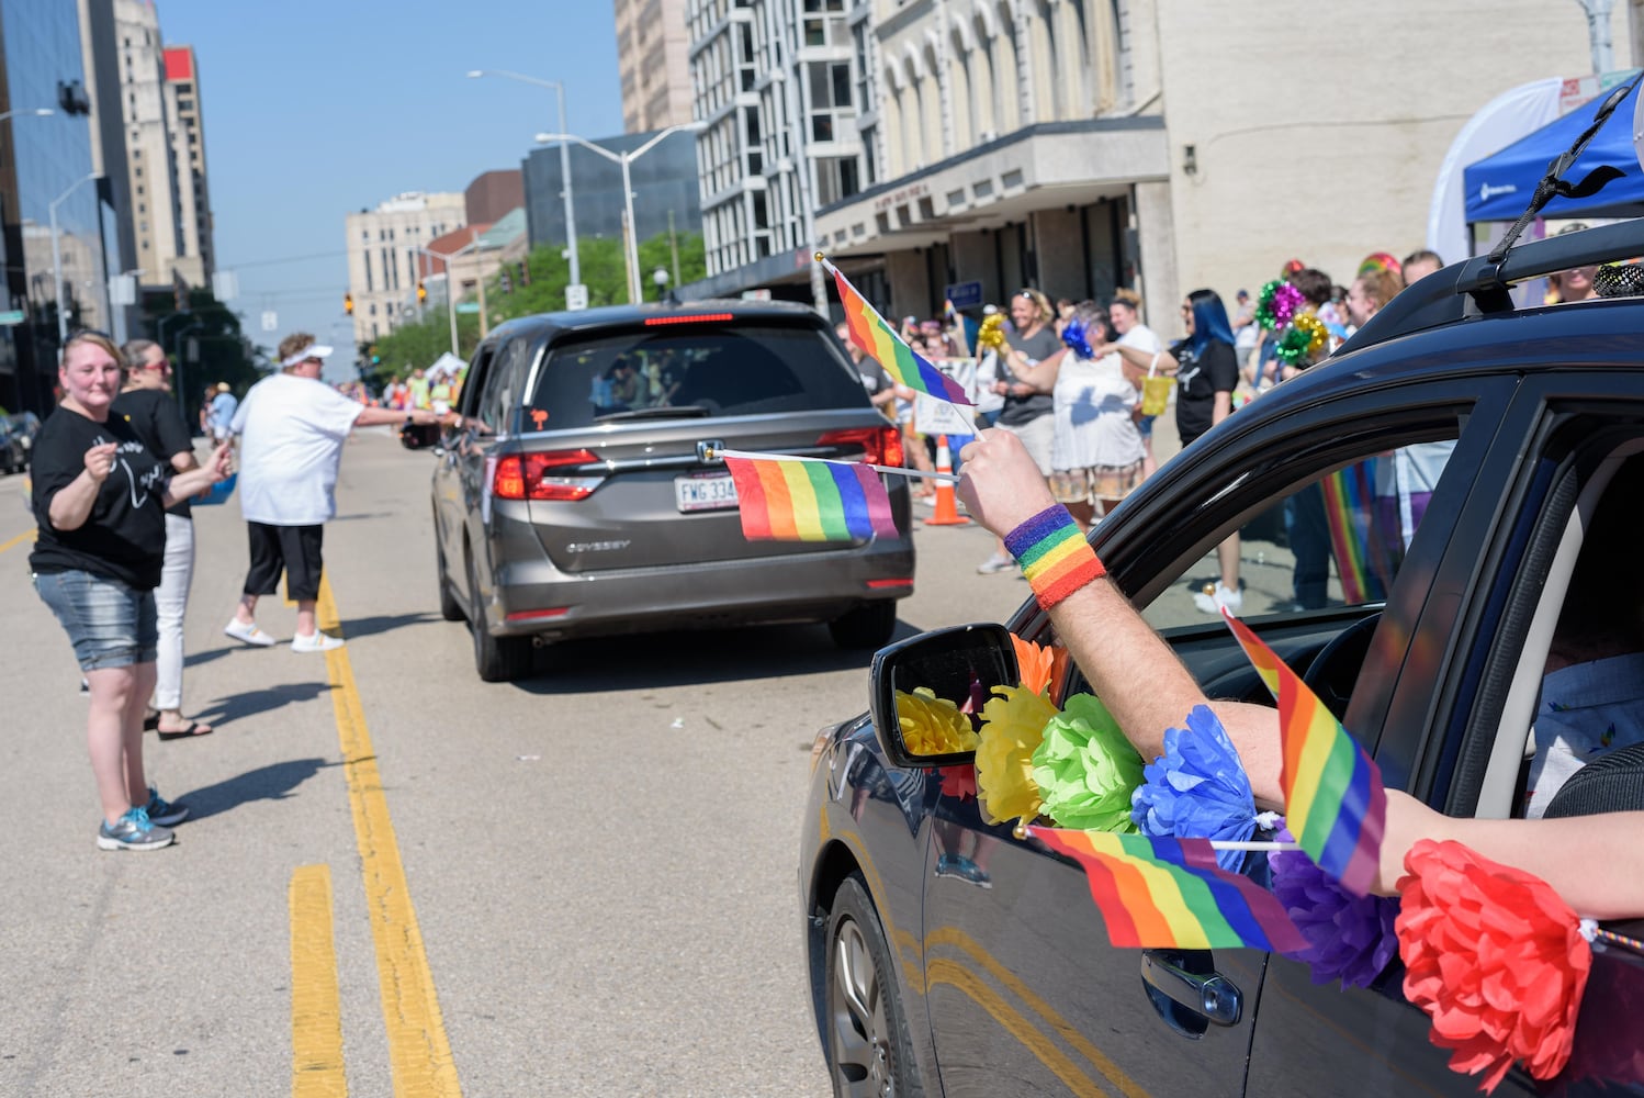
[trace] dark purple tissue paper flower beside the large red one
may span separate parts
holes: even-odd
[[[1295,837],[1281,830],[1281,843]],[[1268,855],[1272,894],[1307,939],[1307,948],[1286,953],[1304,962],[1314,983],[1340,980],[1343,988],[1368,988],[1399,952],[1394,920],[1399,901],[1391,896],[1355,896],[1314,865],[1300,850]]]

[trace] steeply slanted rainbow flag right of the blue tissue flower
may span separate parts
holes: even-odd
[[[1256,674],[1279,699],[1284,819],[1320,870],[1369,894],[1381,861],[1388,791],[1381,768],[1346,735],[1323,702],[1243,621],[1223,611]]]

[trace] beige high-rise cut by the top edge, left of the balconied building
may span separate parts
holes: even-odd
[[[616,0],[616,74],[628,133],[690,122],[686,0]]]

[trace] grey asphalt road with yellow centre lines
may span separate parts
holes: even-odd
[[[148,738],[194,819],[143,855],[95,847],[79,672],[28,580],[25,478],[0,480],[0,1095],[829,1093],[796,843],[868,656],[822,626],[669,634],[482,684],[434,600],[431,464],[349,445],[342,656],[225,638],[243,526],[196,511],[184,694],[217,731]],[[1026,597],[975,574],[980,528],[916,539],[901,634]],[[293,607],[258,616],[291,636]]]

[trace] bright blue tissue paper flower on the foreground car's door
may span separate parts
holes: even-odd
[[[1248,840],[1256,833],[1256,797],[1238,750],[1208,705],[1195,705],[1187,728],[1166,728],[1164,754],[1144,771],[1131,800],[1143,835]],[[1217,865],[1238,871],[1241,850],[1218,850]]]

